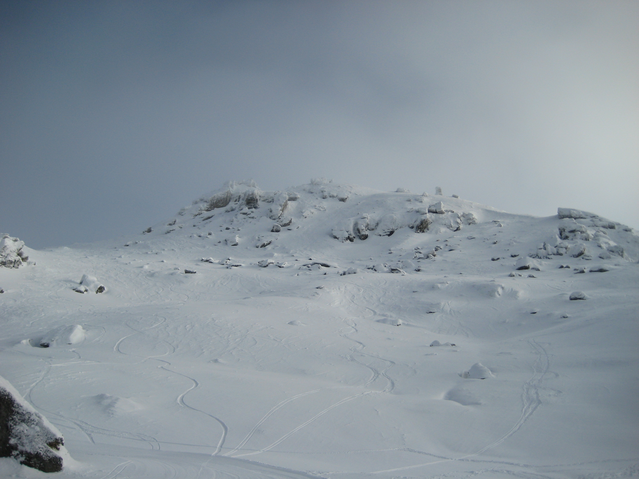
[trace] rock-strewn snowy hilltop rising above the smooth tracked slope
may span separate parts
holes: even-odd
[[[323,178],[279,191],[260,190],[252,180],[229,181],[143,234],[146,241],[166,235],[204,240],[202,248],[214,247],[210,254],[233,254],[243,264],[261,261],[265,254],[285,258],[304,252],[344,268],[371,271],[380,263],[384,268],[419,271],[426,266],[419,264],[422,261],[447,256],[470,262],[564,256],[639,259],[635,232],[594,213],[559,208],[555,217],[535,218],[437,193],[441,188],[435,195],[405,188],[381,192]],[[477,238],[473,243],[485,243],[486,251],[470,248],[469,241]],[[443,251],[440,241],[454,241],[455,246]]]

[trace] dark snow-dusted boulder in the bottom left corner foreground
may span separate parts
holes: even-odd
[[[59,430],[0,376],[0,457],[56,473],[62,470],[63,456],[68,457],[64,443]]]

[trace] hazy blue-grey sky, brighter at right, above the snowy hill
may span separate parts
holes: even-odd
[[[639,227],[637,1],[0,3],[0,232],[325,176]]]

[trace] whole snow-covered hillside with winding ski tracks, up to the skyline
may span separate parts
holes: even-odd
[[[29,250],[0,268],[0,375],[62,478],[639,475],[636,232],[438,193],[231,182]]]

